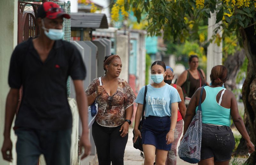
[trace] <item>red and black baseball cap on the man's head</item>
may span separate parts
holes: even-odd
[[[55,4],[53,2],[44,2],[42,5],[38,7],[37,10],[37,17],[38,18],[49,18],[49,19],[55,19],[58,17],[64,17],[69,19],[70,15],[65,13],[65,11],[60,8],[58,4]]]

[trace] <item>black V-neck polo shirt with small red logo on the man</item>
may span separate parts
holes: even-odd
[[[10,87],[23,87],[15,127],[72,128],[67,79],[70,75],[73,80],[84,80],[85,74],[82,56],[69,42],[55,41],[44,63],[33,46],[32,38],[17,45],[9,69]]]

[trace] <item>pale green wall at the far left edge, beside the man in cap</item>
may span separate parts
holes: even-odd
[[[4,137],[4,116],[5,101],[10,90],[8,85],[8,71],[13,48],[17,45],[18,35],[18,0],[0,1],[0,146],[2,148]],[[15,136],[12,130],[12,155],[13,162],[16,164]],[[9,165],[0,156],[1,165]]]

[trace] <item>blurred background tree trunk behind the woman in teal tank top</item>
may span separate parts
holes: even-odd
[[[236,76],[241,66],[243,65],[245,58],[245,51],[236,51],[234,55],[229,54],[228,58],[224,62],[225,67],[228,69],[228,79],[225,82],[225,88],[228,90],[236,89]]]

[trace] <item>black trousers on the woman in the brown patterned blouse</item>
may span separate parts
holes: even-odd
[[[104,127],[96,121],[92,125],[92,137],[96,146],[99,165],[123,165],[124,149],[128,140],[128,134],[121,137],[121,126]]]

